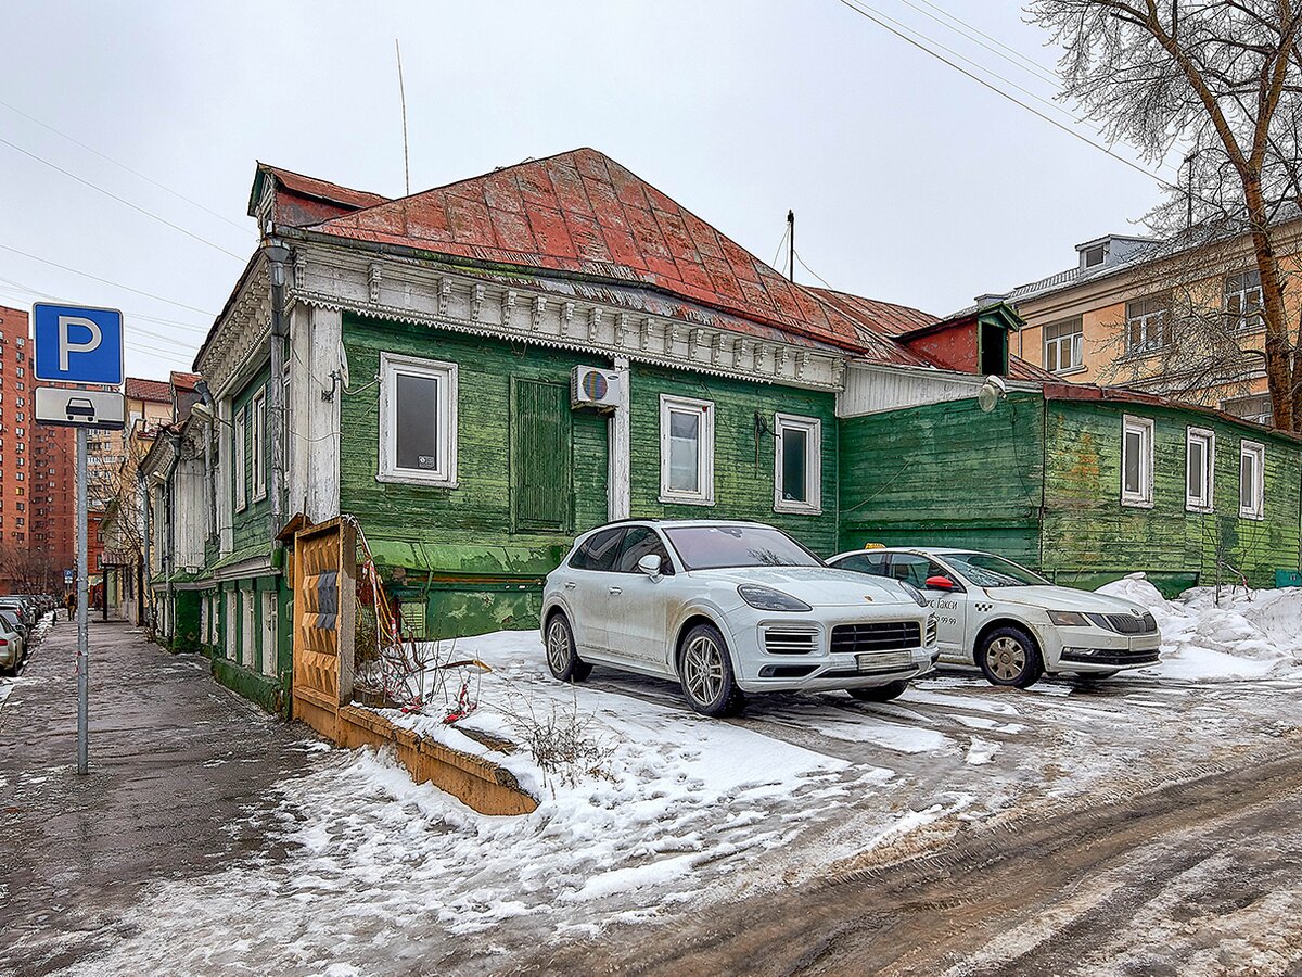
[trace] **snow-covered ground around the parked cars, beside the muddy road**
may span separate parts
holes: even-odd
[[[263,856],[156,886],[90,972],[499,970],[548,941],[867,868],[1302,727],[1302,593],[1217,607],[1142,580],[1107,589],[1154,608],[1159,666],[1027,692],[941,673],[884,705],[780,694],[734,722],[694,715],[663,681],[596,670],[562,687],[535,632],[461,640],[458,658],[492,668],[466,726],[518,739],[525,716],[574,716],[592,745],[573,776],[493,754],[538,812],[480,815],[383,754],[323,748],[241,826],[266,832]],[[431,711],[391,718],[484,750]]]

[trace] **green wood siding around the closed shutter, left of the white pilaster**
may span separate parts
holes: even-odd
[[[344,347],[361,389],[345,392],[340,408],[340,507],[361,518],[368,538],[415,543],[450,573],[536,576],[552,568],[573,533],[605,521],[607,422],[594,410],[570,412],[568,393],[570,369],[598,358],[355,315],[344,317]],[[376,481],[380,391],[371,378],[380,352],[457,363],[456,488]],[[559,486],[570,516],[565,531],[525,525],[513,531],[513,379],[565,391],[572,459],[569,485]]]

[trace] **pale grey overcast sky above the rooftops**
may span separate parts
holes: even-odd
[[[1052,70],[1017,3],[871,7],[1055,91],[926,16]],[[1154,180],[836,0],[10,0],[3,23],[0,139],[187,232],[0,145],[0,304],[122,309],[133,375],[193,362],[255,246],[255,160],[404,191],[395,38],[413,191],[592,146],[763,261],[794,208],[818,275],[931,313],[1069,267],[1073,245],[1133,233],[1159,199]],[[797,280],[818,284],[799,266]]]

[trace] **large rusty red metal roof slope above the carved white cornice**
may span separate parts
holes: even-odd
[[[639,284],[788,335],[875,348],[858,317],[788,281],[592,149],[461,180],[327,220],[319,232],[479,262]]]

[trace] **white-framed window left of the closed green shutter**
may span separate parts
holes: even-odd
[[[379,478],[456,487],[456,363],[380,353]]]

